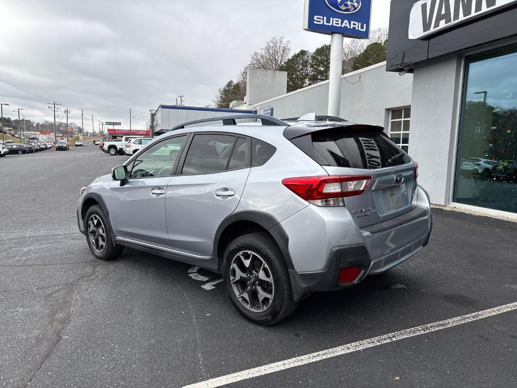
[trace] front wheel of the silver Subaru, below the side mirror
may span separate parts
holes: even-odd
[[[88,247],[99,260],[111,260],[121,255],[123,246],[115,246],[108,219],[99,205],[92,206],[84,218],[84,232]]]

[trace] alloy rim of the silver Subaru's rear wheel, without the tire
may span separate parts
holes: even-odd
[[[230,281],[237,299],[248,310],[262,312],[271,306],[275,282],[269,266],[257,253],[245,250],[235,255]]]

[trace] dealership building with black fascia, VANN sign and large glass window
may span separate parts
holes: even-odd
[[[517,1],[391,1],[386,67],[413,88],[390,136],[435,204],[517,214],[515,21]]]

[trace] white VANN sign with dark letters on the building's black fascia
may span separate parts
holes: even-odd
[[[421,39],[517,0],[420,0],[409,14],[409,39]]]

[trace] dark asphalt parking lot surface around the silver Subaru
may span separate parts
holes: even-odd
[[[259,327],[236,312],[219,275],[131,249],[94,259],[75,201],[124,160],[97,146],[0,160],[0,386],[217,386],[206,381],[387,334],[228,386],[517,386],[514,307],[391,335],[517,302],[517,224],[433,210],[418,255]]]

